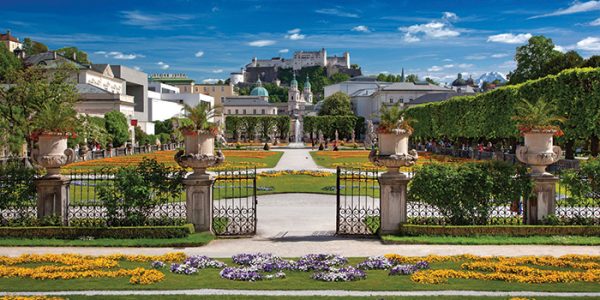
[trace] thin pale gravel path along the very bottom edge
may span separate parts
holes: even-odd
[[[344,291],[344,290],[156,290],[156,291],[56,291],[56,292],[0,292],[0,295],[11,296],[121,296],[121,295],[234,295],[234,296],[330,296],[330,297],[373,297],[373,296],[404,296],[404,297],[434,297],[434,296],[485,296],[485,297],[600,297],[600,293],[569,293],[569,292],[488,292],[488,291]]]

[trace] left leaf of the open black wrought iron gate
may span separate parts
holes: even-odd
[[[212,191],[215,234],[256,233],[256,169],[219,171]]]

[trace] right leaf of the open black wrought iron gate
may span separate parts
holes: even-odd
[[[379,172],[337,168],[337,228],[342,235],[371,235],[381,226]]]

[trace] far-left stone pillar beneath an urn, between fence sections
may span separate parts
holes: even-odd
[[[58,216],[63,225],[68,225],[70,181],[67,178],[40,178],[35,180],[38,219]]]

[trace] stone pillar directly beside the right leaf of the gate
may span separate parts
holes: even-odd
[[[379,177],[381,197],[381,227],[379,234],[394,234],[400,224],[406,223],[406,191],[410,178],[398,172],[384,173]]]

